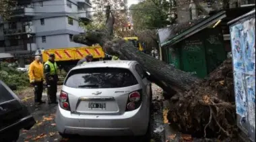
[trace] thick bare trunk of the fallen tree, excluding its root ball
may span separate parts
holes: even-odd
[[[143,66],[145,71],[150,72],[150,80],[158,84],[166,92],[169,92],[169,94],[188,90],[193,83],[200,81],[199,78],[191,76],[191,74],[177,70],[169,64],[140,52],[133,44],[127,43],[122,39],[111,40],[113,38],[111,31],[113,31],[115,18],[109,6],[106,9],[106,16],[106,31],[88,31],[84,34],[74,35],[73,41],[88,46],[100,44],[105,52],[119,55],[121,60],[136,60]]]

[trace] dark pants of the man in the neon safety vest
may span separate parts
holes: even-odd
[[[57,102],[57,81],[49,81],[47,84],[47,96],[49,102]]]

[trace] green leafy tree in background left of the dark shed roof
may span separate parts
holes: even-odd
[[[129,7],[133,28],[147,29],[148,27],[166,27],[170,25],[170,3],[166,0],[143,0]]]

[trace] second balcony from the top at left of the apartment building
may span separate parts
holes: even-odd
[[[36,27],[34,25],[25,25],[24,27],[18,27],[17,29],[3,29],[4,36],[15,36],[28,33],[36,33]]]

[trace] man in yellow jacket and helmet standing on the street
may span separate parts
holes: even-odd
[[[42,91],[43,91],[43,81],[44,73],[43,66],[40,56],[36,56],[34,62],[30,64],[28,70],[28,76],[30,77],[30,84],[34,86],[34,102],[37,104],[42,104]]]

